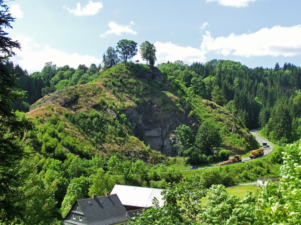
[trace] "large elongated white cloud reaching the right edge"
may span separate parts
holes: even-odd
[[[292,27],[274,26],[262,28],[255,33],[228,37],[211,37],[206,31],[201,50],[222,55],[250,56],[294,56],[301,54],[301,25]]]

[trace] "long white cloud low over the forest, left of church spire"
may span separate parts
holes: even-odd
[[[19,64],[29,73],[41,71],[45,62],[51,62],[57,66],[69,65],[77,68],[79,64],[89,67],[92,63],[101,63],[101,58],[92,55],[80,55],[76,52],[67,53],[51,48],[51,46],[40,46],[33,42],[29,36],[18,35],[13,40],[18,40],[22,46],[22,51],[15,50],[16,55],[11,58],[14,64]]]

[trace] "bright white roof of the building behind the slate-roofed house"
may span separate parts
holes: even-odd
[[[150,207],[154,197],[158,199],[159,206],[163,206],[164,200],[161,195],[163,189],[149,187],[135,187],[115,184],[111,194],[117,194],[123,205]]]

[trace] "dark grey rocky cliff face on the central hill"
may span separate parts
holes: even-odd
[[[165,155],[175,156],[178,154],[178,146],[174,130],[182,124],[197,132],[197,122],[189,116],[189,110],[166,112],[157,105],[156,99],[141,105],[137,109],[129,108],[125,112],[126,117],[133,127],[136,137],[150,145],[152,149]]]

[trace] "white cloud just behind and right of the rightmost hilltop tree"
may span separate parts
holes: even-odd
[[[161,62],[174,62],[175,60],[182,60],[184,63],[192,63],[193,61],[198,61],[198,62],[205,62],[206,57],[204,53],[197,48],[193,47],[183,47],[183,46],[178,46],[176,44],[172,44],[171,42],[155,42],[154,46],[156,47],[156,58],[157,61],[156,63],[161,63]],[[146,61],[142,61],[141,55],[138,54],[133,57],[133,61],[138,59],[143,63],[146,63]]]

